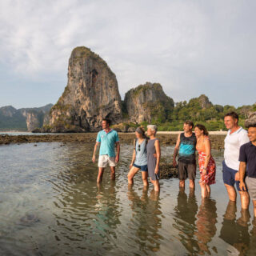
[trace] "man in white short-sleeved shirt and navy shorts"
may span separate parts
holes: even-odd
[[[240,147],[249,142],[247,131],[238,126],[238,114],[230,112],[225,115],[224,123],[228,133],[225,138],[225,150],[223,165],[223,182],[229,194],[230,201],[236,201],[237,193],[234,183],[241,196],[242,209],[249,207],[249,194],[247,191],[240,190],[239,187],[239,150]]]

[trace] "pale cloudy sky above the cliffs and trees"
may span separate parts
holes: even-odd
[[[76,46],[107,62],[122,98],[159,82],[174,102],[254,104],[254,10],[254,0],[0,0],[0,106],[56,103]]]

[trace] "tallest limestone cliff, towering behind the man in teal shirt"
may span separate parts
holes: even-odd
[[[50,111],[44,130],[96,131],[103,118],[122,120],[122,103],[115,74],[97,54],[82,46],[70,56],[67,86]]]

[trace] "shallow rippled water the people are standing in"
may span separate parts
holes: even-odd
[[[178,180],[161,180],[159,197],[140,175],[127,186],[132,146],[122,145],[116,182],[96,185],[93,145],[38,143],[0,147],[1,255],[254,255],[253,212],[228,204],[222,152],[212,197],[202,201]],[[163,156],[173,146],[162,147]],[[187,185],[187,184],[186,184]]]

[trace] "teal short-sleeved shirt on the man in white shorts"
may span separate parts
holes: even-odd
[[[99,131],[96,142],[101,142],[99,155],[107,154],[112,158],[115,157],[115,142],[119,142],[116,130],[110,130],[108,133],[105,130]]]

